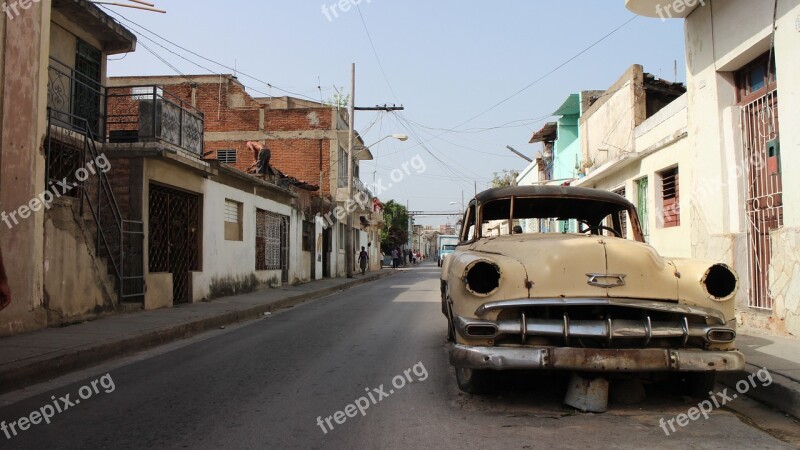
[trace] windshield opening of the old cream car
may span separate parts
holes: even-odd
[[[628,208],[624,204],[580,197],[515,197],[484,203],[484,237],[531,233],[586,233],[627,237]],[[509,226],[509,220],[512,223]]]

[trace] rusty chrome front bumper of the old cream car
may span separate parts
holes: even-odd
[[[467,369],[550,369],[588,372],[707,372],[744,369],[738,351],[478,347],[450,344],[450,364]]]

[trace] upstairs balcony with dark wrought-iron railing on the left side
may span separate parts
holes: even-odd
[[[47,94],[59,123],[76,132],[88,124],[98,142],[160,142],[203,153],[203,113],[158,86],[106,87],[51,58]]]

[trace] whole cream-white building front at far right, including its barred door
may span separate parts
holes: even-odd
[[[668,2],[627,0],[659,17]],[[800,1],[707,0],[685,20],[693,256],[738,271],[744,326],[800,335]],[[686,170],[684,173],[687,172]]]

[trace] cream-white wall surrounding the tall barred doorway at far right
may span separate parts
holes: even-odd
[[[686,19],[686,65],[689,89],[689,151],[696,180],[692,208],[693,256],[732,263],[742,278],[737,299],[748,325],[800,334],[800,0],[778,2],[775,64],[783,168],[784,227],[772,233],[770,290],[772,314],[747,307],[745,189],[741,175],[739,107],[733,73],[767,52],[771,42],[772,2],[713,0]]]

